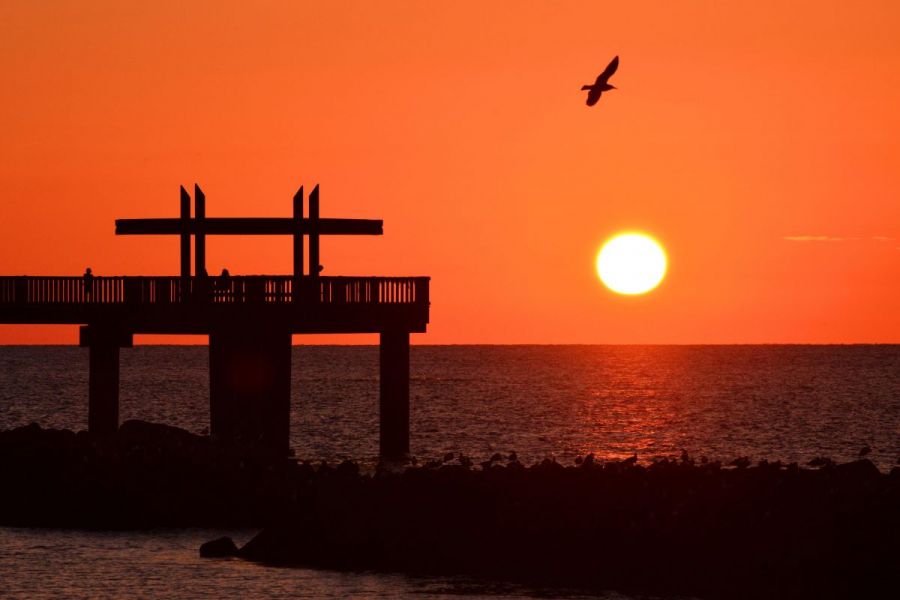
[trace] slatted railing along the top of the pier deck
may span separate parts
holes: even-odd
[[[428,305],[428,277],[0,277],[0,306],[320,303]]]

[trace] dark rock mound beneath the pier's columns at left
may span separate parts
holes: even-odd
[[[261,527],[302,473],[284,458],[126,421],[109,436],[0,432],[0,524],[101,529]]]

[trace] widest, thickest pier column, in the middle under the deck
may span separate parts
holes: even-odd
[[[291,334],[220,327],[209,336],[210,434],[229,444],[290,449]]]

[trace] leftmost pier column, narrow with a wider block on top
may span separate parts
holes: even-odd
[[[88,431],[100,435],[119,429],[119,348],[131,335],[95,325],[82,327],[79,345],[89,349]]]

